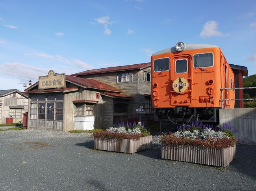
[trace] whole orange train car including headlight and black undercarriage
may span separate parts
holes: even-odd
[[[221,101],[221,88],[233,88],[234,73],[221,49],[209,44],[184,44],[151,56],[152,104],[159,120],[173,123],[218,122],[219,108],[234,108]],[[223,99],[234,99],[234,89]]]

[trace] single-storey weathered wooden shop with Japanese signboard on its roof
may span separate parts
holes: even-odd
[[[22,92],[29,100],[28,129],[66,132],[113,126],[108,110],[113,98],[132,98],[121,92],[97,80],[57,75],[51,70]]]

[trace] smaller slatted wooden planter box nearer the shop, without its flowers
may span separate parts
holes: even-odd
[[[120,153],[136,153],[152,146],[152,135],[136,139],[94,138],[94,148]]]

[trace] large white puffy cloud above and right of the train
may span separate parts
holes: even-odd
[[[212,36],[228,36],[229,34],[223,34],[218,31],[218,22],[216,21],[208,21],[204,24],[202,32],[200,33],[201,38],[207,38]]]

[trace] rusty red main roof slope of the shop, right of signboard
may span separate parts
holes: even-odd
[[[74,84],[78,84],[78,85],[82,85],[84,87],[91,87],[94,89],[100,89],[100,90],[104,90],[104,91],[112,91],[112,92],[122,92],[119,89],[116,89],[115,87],[99,82],[97,80],[93,80],[93,79],[87,79],[87,78],[80,78],[80,77],[76,77],[76,76],[69,76],[66,75],[66,80],[70,81],[71,83]]]

